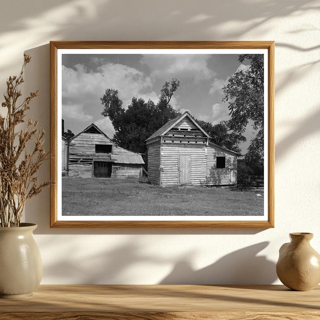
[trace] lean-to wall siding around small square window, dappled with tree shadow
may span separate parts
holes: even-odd
[[[207,149],[207,184],[208,185],[233,185],[236,184],[236,178],[234,182],[230,180],[230,170],[237,169],[237,157],[234,153],[227,150],[220,149],[209,143]],[[226,157],[226,167],[216,168],[216,157]],[[236,176],[236,174],[235,174]]]

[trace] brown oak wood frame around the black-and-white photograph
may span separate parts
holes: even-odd
[[[50,189],[51,228],[274,228],[274,41],[51,41],[51,180],[58,181],[58,50],[60,49],[266,49],[268,50],[268,219],[266,220],[59,220],[58,185]],[[60,155],[59,155],[60,156]],[[93,169],[92,169],[93,170]],[[230,178],[231,179],[231,178]],[[223,219],[223,216],[221,216]]]

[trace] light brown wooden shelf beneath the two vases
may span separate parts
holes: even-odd
[[[320,286],[41,285],[33,296],[0,299],[0,319],[320,319]]]

